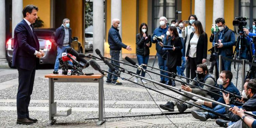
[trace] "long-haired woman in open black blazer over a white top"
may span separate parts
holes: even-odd
[[[194,79],[197,65],[206,62],[208,38],[200,21],[193,22],[192,29],[193,33],[190,34],[186,60],[189,63],[191,79]]]

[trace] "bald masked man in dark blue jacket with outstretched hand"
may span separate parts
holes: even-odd
[[[121,27],[120,20],[119,19],[113,19],[112,20],[112,26],[109,29],[109,35],[108,35],[108,43],[110,48],[110,56],[111,59],[119,61],[119,54],[120,50],[122,48],[127,49],[128,51],[131,51],[131,45],[127,46],[124,43],[122,43],[122,39],[119,34],[118,28]],[[117,66],[120,66],[119,62],[111,60],[111,63],[114,63]],[[116,70],[118,70],[117,67],[115,67]],[[109,72],[113,72],[109,68]],[[115,72],[113,72],[115,74]],[[112,85],[122,85],[121,82],[117,81],[117,76],[112,76],[111,74],[108,74],[108,78],[106,80],[106,84],[112,84]]]

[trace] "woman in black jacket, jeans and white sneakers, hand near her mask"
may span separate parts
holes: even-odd
[[[147,24],[142,23],[140,25],[140,33],[136,35],[136,55],[139,65],[142,63],[147,65],[151,47],[151,36],[147,33]],[[146,66],[143,66],[146,69]],[[137,74],[140,74],[140,70],[137,69]],[[141,76],[145,77],[145,72],[141,73]],[[136,77],[134,82],[138,83],[138,78]],[[147,84],[145,80],[142,80],[144,84]]]

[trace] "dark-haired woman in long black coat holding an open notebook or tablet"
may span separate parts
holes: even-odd
[[[163,38],[163,43],[160,43],[160,46],[168,45],[172,46],[171,49],[166,50],[167,54],[167,62],[166,66],[168,67],[169,72],[177,73],[177,66],[181,66],[181,49],[183,48],[181,38],[179,37],[179,33],[174,26],[170,26],[168,31],[166,32],[166,37]],[[164,47],[165,48],[165,47]],[[171,74],[169,74],[171,76]],[[172,78],[175,79],[175,75],[172,75]],[[169,80],[167,85],[176,86],[174,80]]]

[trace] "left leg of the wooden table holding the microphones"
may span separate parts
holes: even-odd
[[[52,116],[52,103],[54,103],[54,82],[53,78],[49,78],[49,120],[47,125],[53,125],[56,122]]]

